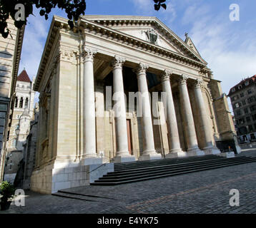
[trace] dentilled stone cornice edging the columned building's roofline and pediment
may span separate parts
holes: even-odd
[[[87,16],[88,17],[88,16]],[[166,48],[162,48],[160,46],[154,45],[152,43],[149,43],[147,41],[144,41],[140,38],[135,38],[134,36],[130,36],[127,33],[123,33],[122,31],[117,31],[115,29],[109,28],[104,24],[110,24],[110,23],[117,23],[117,24],[123,24],[124,26],[132,25],[132,24],[151,24],[162,33],[167,35],[170,39],[174,41],[176,45],[179,45],[182,47],[182,50],[186,50],[189,48],[182,39],[180,39],[175,33],[173,33],[167,26],[162,24],[161,21],[159,21],[155,17],[140,17],[140,16],[130,16],[131,19],[129,19],[129,16],[127,16],[127,20],[124,20],[123,16],[119,16],[122,19],[114,20],[103,20],[103,25],[99,23],[101,20],[89,21],[88,19],[85,19],[84,17],[81,17],[77,24],[74,26],[73,30],[69,28],[69,24],[67,23],[68,20],[61,18],[59,16],[54,16],[51,21],[51,26],[49,28],[49,33],[46,39],[46,44],[44,46],[44,52],[41,57],[41,62],[39,65],[39,71],[36,76],[36,81],[34,83],[34,90],[39,89],[39,84],[41,81],[42,76],[44,75],[46,64],[49,61],[49,56],[51,53],[51,48],[54,44],[54,41],[56,41],[56,36],[60,36],[59,34],[63,31],[72,31],[74,33],[85,33],[89,34],[91,36],[99,36],[104,37],[106,36],[108,39],[111,38],[113,41],[118,41],[121,44],[126,44],[127,46],[133,47],[133,48],[139,48],[141,51],[147,51],[147,53],[154,53],[158,56],[167,58],[171,61],[174,61],[176,63],[182,63],[187,66],[192,66],[195,68],[198,68],[199,71],[202,71],[202,69],[206,68],[207,63],[200,58],[196,53],[194,54],[194,58],[197,58],[197,60],[189,58],[187,56],[183,56],[182,54],[175,53],[174,51],[170,51]],[[118,16],[117,16],[118,18]],[[132,19],[133,18],[133,19]],[[91,17],[92,19],[92,17]],[[193,51],[189,48],[188,53],[192,53]],[[208,71],[207,71],[208,72]]]

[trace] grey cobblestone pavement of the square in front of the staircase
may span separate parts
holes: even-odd
[[[256,150],[240,155],[256,157]],[[240,192],[239,206],[230,206],[231,189]],[[0,213],[255,214],[256,162],[126,185],[77,187],[69,192],[113,199],[90,202],[28,191],[24,207],[12,204]]]

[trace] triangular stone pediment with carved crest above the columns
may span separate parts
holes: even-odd
[[[207,64],[194,43],[192,48],[156,17],[87,15],[83,18]]]

